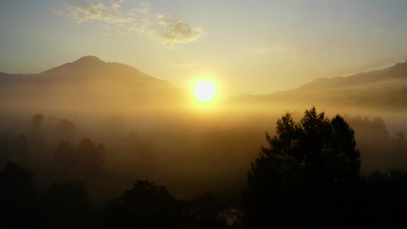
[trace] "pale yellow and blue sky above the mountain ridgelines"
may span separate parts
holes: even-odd
[[[188,88],[267,94],[407,59],[407,1],[0,0],[0,72],[86,55]]]

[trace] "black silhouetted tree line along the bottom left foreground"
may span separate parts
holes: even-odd
[[[12,162],[0,171],[0,228],[232,228],[228,219],[238,214],[214,195],[178,200],[147,180],[91,211],[85,183],[54,182],[40,194],[32,179],[32,172]]]

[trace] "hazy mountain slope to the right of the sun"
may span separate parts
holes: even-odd
[[[232,101],[263,105],[407,110],[407,61],[349,77],[316,79],[283,92],[241,95]]]

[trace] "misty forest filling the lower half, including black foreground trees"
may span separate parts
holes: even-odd
[[[380,117],[286,112],[266,141],[244,122],[149,135],[119,116],[22,120],[2,122],[1,228],[405,226],[407,141]]]

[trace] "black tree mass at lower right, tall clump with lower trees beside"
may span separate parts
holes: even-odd
[[[248,228],[405,228],[406,171],[361,177],[354,131],[315,108],[287,113],[248,172]]]

